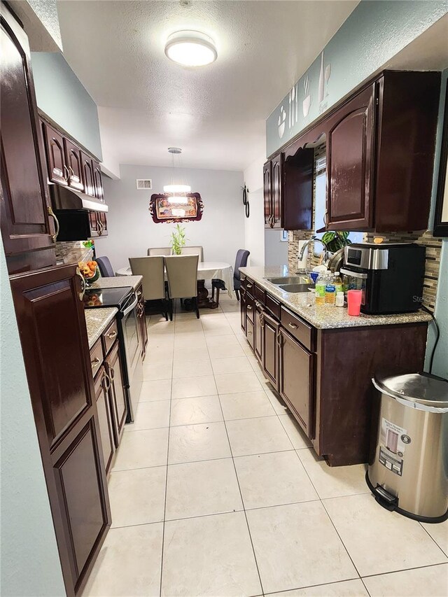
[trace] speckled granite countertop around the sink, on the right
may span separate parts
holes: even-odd
[[[400,323],[420,323],[430,321],[430,315],[424,311],[398,315],[364,315],[352,317],[347,313],[346,307],[325,307],[316,305],[314,294],[286,293],[279,286],[272,284],[266,278],[280,276],[295,276],[294,271],[289,271],[286,265],[278,267],[240,267],[241,274],[245,274],[258,286],[264,288],[270,295],[276,297],[285,307],[296,313],[302,319],[311,323],[314,328],[361,328],[367,325],[398,325]]]

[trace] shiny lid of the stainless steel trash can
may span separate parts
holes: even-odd
[[[372,380],[379,391],[392,398],[421,405],[448,407],[448,381],[428,373],[409,373],[390,377],[375,376]]]

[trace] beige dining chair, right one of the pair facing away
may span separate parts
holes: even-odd
[[[171,255],[165,257],[167,269],[169,318],[173,321],[173,299],[190,298],[199,319],[197,306],[197,264],[199,255]]]

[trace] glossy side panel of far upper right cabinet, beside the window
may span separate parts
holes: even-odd
[[[283,161],[281,227],[313,230],[314,149],[300,147]]]

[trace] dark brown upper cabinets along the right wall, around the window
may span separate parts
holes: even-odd
[[[265,223],[277,196],[281,227],[313,229],[314,148],[325,143],[327,230],[426,230],[439,94],[440,73],[412,71],[384,71],[353,92],[266,162]]]

